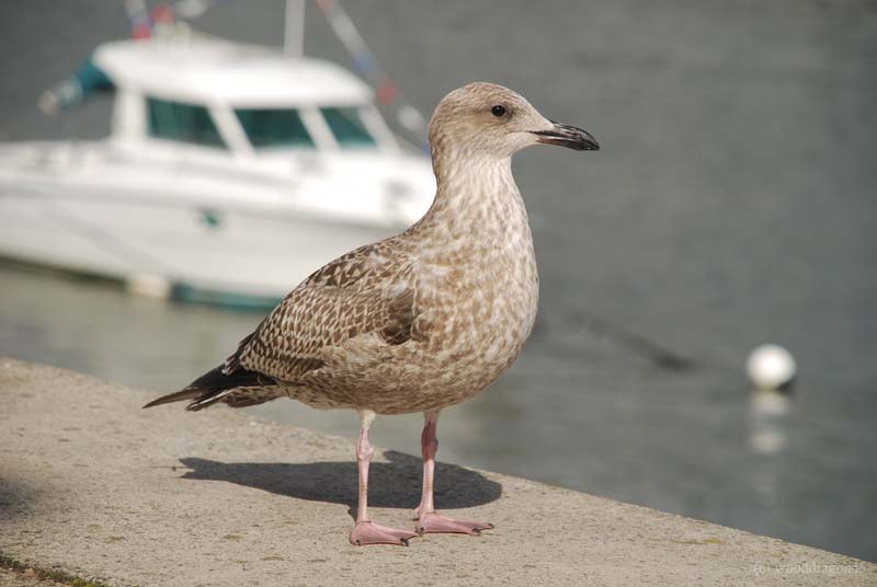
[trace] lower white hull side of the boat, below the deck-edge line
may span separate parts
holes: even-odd
[[[116,278],[141,292],[164,284],[192,301],[273,303],[329,261],[400,228],[283,210],[55,198],[31,187],[0,196],[3,256]]]

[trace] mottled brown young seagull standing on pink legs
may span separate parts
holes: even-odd
[[[494,83],[448,93],[430,122],[436,194],[405,232],[318,269],[225,362],[144,407],[189,400],[243,407],[292,398],[360,416],[356,521],[350,542],[402,544],[492,525],[440,515],[433,502],[440,412],[479,393],[520,355],[536,319],[539,278],[512,156],[537,143],[597,150],[581,128],[545,118]],[[368,516],[368,430],[376,414],[424,415],[423,491],[414,532]]]

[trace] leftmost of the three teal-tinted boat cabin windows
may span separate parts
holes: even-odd
[[[159,139],[225,147],[223,137],[204,106],[147,97],[149,135]]]

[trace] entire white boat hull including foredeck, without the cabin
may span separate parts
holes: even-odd
[[[419,159],[291,153],[277,172],[174,148],[4,146],[0,256],[140,294],[273,303],[337,256],[403,230],[434,189]],[[407,195],[394,181],[408,182]]]

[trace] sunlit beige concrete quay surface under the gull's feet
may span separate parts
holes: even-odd
[[[437,506],[494,530],[355,548],[351,440],[225,407],[140,410],[153,396],[0,359],[3,560],[141,587],[877,584],[873,563],[446,463]],[[373,519],[413,527],[420,459],[375,456]]]

